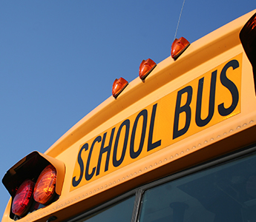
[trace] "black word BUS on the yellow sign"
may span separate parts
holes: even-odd
[[[219,104],[217,107],[217,112],[222,115],[226,116],[231,114],[234,109],[237,107],[239,101],[239,92],[237,90],[236,85],[226,76],[226,71],[232,67],[233,70],[239,67],[239,63],[237,60],[229,61],[221,70],[220,73],[220,82],[221,84],[226,87],[232,95],[232,104],[225,108],[224,103]],[[202,111],[202,95],[203,95],[203,80],[204,78],[200,78],[198,81],[198,89],[197,89],[197,105],[196,105],[196,112],[195,112],[195,123],[197,127],[204,127],[206,124],[209,124],[211,118],[214,115],[214,107],[215,107],[215,94],[216,94],[216,79],[217,79],[217,70],[211,73],[211,87],[210,87],[210,96],[209,96],[209,111],[206,118],[201,118],[201,111]],[[186,104],[182,107],[181,105],[181,97],[183,94],[187,94],[186,97]],[[184,135],[191,124],[191,100],[193,95],[193,89],[191,86],[187,86],[182,90],[177,92],[177,100],[176,100],[176,107],[175,107],[175,114],[174,114],[174,128],[173,128],[173,139]],[[205,104],[207,106],[207,104]],[[186,114],[186,124],[182,129],[179,128],[179,120],[180,120],[180,113],[185,112]]]

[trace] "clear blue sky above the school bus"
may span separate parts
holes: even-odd
[[[140,62],[170,55],[183,0],[0,1],[0,176],[45,152],[132,81]],[[177,37],[193,42],[256,8],[255,0],[186,0]],[[0,185],[0,215],[9,193]]]

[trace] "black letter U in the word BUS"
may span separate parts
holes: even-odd
[[[211,89],[210,89],[210,98],[209,98],[209,111],[208,111],[208,116],[205,119],[201,118],[203,78],[200,78],[200,80],[198,82],[197,110],[196,110],[196,124],[197,124],[198,127],[206,126],[206,124],[208,124],[209,121],[211,121],[211,118],[214,115],[216,76],[217,76],[217,70],[215,70],[213,73],[211,73]]]

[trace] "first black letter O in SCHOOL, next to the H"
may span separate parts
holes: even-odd
[[[124,127],[124,126],[125,126],[125,141],[124,141],[124,144],[123,144],[123,147],[122,147],[121,158],[119,159],[119,161],[117,161],[116,160],[117,147],[118,147],[120,133],[121,133],[122,127]],[[130,129],[130,121],[127,119],[127,120],[122,122],[122,124],[119,127],[118,132],[116,134],[116,141],[115,141],[114,152],[113,152],[113,165],[114,166],[119,166],[120,164],[122,164],[122,161],[125,158],[125,151],[126,151],[126,147],[127,147],[127,143],[128,143],[129,129]]]

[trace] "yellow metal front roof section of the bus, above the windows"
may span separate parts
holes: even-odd
[[[59,200],[30,213],[21,221],[39,218],[39,221],[45,221],[53,213],[62,221],[149,181],[255,142],[252,135],[255,132],[256,104],[250,102],[255,101],[252,65],[239,40],[241,28],[255,12],[191,43],[177,61],[166,58],[157,64],[145,81],[139,77],[134,79],[117,98],[108,98],[68,130],[45,152],[45,155],[65,163]],[[213,76],[216,81],[214,113],[209,121],[202,121],[199,126],[194,120],[198,84],[204,81],[203,84],[210,88]],[[232,81],[236,91],[226,87],[222,77],[223,81]],[[238,93],[237,101],[234,101],[233,92]],[[191,102],[188,104],[189,93]],[[209,92],[201,96],[202,103],[206,104],[206,109],[201,107],[202,120],[206,120],[209,96]],[[224,115],[220,108],[222,104],[222,109],[228,110],[234,102],[234,109]],[[181,129],[186,127],[188,113],[176,110],[177,105],[191,110],[186,132],[181,132]],[[177,129],[174,127],[175,116],[180,121],[176,124]],[[133,130],[140,132],[140,136],[132,138]],[[174,135],[175,130],[180,134]],[[107,152],[99,158],[99,150],[103,138],[111,140],[112,132],[111,158],[107,164]],[[142,150],[139,152],[140,144]],[[107,145],[108,142],[105,147]],[[83,167],[88,164],[88,178],[85,170],[81,171],[81,160]],[[10,220],[10,203],[3,221]]]

